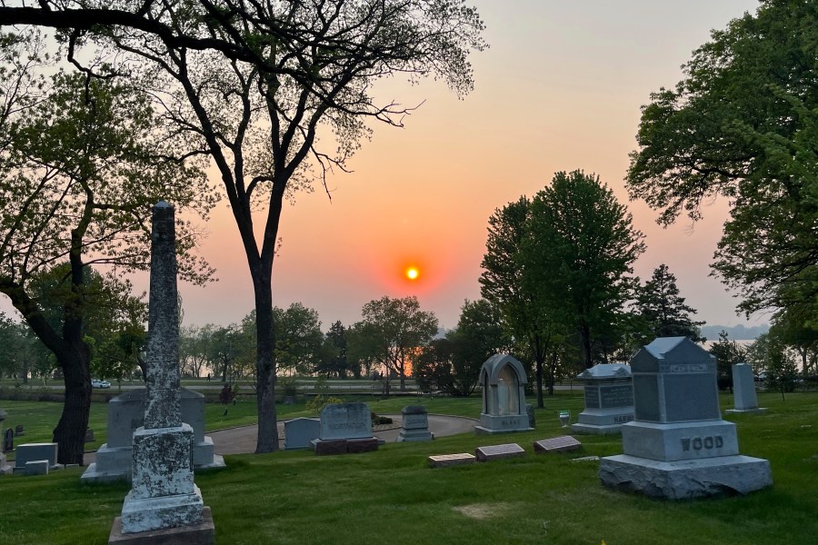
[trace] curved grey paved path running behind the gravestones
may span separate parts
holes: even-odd
[[[384,414],[392,419],[400,419],[399,414]],[[434,433],[434,437],[445,437],[458,433],[474,431],[474,424],[477,421],[462,416],[446,416],[443,414],[429,415],[429,431]],[[278,422],[279,437],[284,437],[284,421]],[[400,427],[374,431],[374,435],[386,442],[397,440]],[[228,430],[211,431],[207,433],[213,439],[213,448],[216,454],[244,454],[255,451],[255,438],[258,435],[258,426],[242,426],[240,428],[230,428]],[[281,441],[281,448],[284,448],[284,440]]]

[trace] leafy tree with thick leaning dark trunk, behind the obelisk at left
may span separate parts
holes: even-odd
[[[40,58],[37,37],[4,39],[14,44],[4,51],[5,68],[20,81],[19,71],[32,69],[24,60]],[[166,139],[138,89],[62,72],[50,80],[26,77],[28,87],[43,90],[37,101],[19,87],[0,87],[0,292],[55,354],[65,403],[54,441],[61,463],[82,464],[91,399],[85,322],[100,296],[86,269],[108,266],[108,285],[116,273],[144,270],[151,204],[165,198],[205,213],[212,201],[202,171]],[[204,282],[209,271],[188,253],[195,232],[189,223],[179,232],[180,272]],[[58,326],[36,295],[56,264],[65,267]]]

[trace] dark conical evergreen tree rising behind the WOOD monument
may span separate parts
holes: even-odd
[[[653,276],[636,293],[634,304],[637,314],[646,326],[646,336],[639,344],[647,344],[656,337],[688,337],[693,342],[704,342],[699,326],[691,314],[696,311],[684,303],[676,286],[676,277],[662,263],[653,269]]]

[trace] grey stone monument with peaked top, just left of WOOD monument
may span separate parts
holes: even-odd
[[[584,382],[585,409],[572,424],[574,433],[619,433],[633,420],[631,366],[600,363],[577,377]]]

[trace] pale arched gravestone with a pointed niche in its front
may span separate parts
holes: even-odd
[[[525,376],[523,364],[508,354],[495,354],[480,370],[483,387],[483,411],[480,425],[474,426],[478,435],[531,431],[525,405]]]

